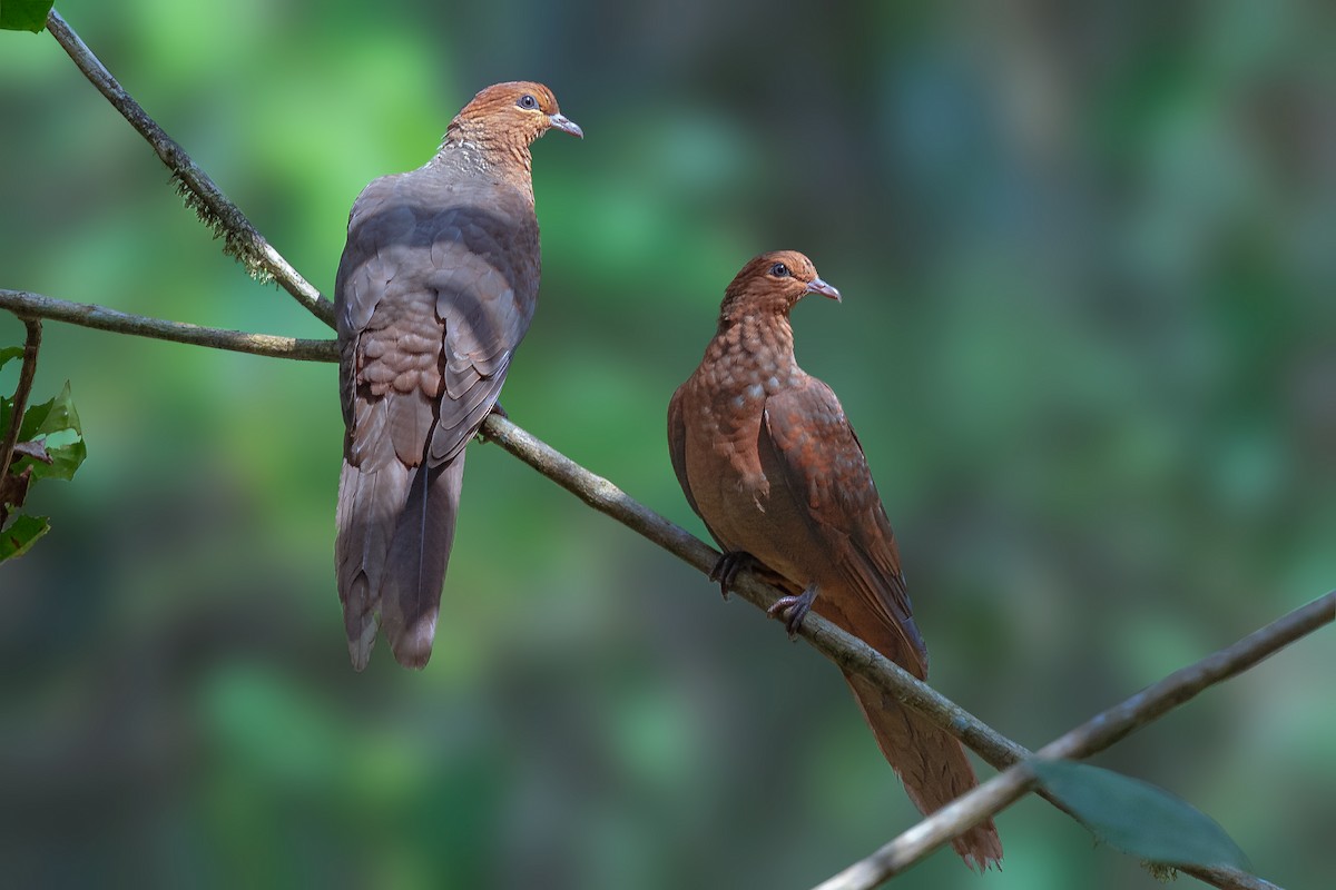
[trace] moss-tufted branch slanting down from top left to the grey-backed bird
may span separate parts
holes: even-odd
[[[215,236],[222,236],[226,242],[223,252],[239,260],[248,275],[261,280],[277,282],[315,318],[333,327],[334,304],[321,296],[321,292],[298,275],[297,270],[265,240],[265,236],[251,226],[244,213],[227,200],[214,180],[122,88],[107,67],[55,9],[47,15],[47,31],[69,53],[84,76],[92,81],[92,85],[102,91],[107,101],[154,147],[158,157],[176,180],[176,191],[186,199],[186,204],[199,215]]]

